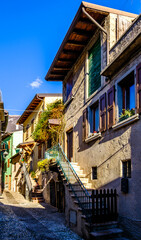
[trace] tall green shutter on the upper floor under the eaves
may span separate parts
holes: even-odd
[[[101,45],[100,38],[89,51],[89,83],[88,96],[101,86]]]

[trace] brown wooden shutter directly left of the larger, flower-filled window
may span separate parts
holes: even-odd
[[[111,87],[107,92],[107,121],[108,129],[115,124],[115,86]]]

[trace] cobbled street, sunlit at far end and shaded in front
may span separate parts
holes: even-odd
[[[0,196],[0,240],[82,240],[65,226],[64,214],[43,203],[32,203],[19,193]]]

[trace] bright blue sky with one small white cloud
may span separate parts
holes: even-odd
[[[141,0],[90,2],[141,12]],[[60,82],[44,77],[80,4],[80,0],[0,1],[0,89],[10,114],[21,114],[36,93],[62,91]]]

